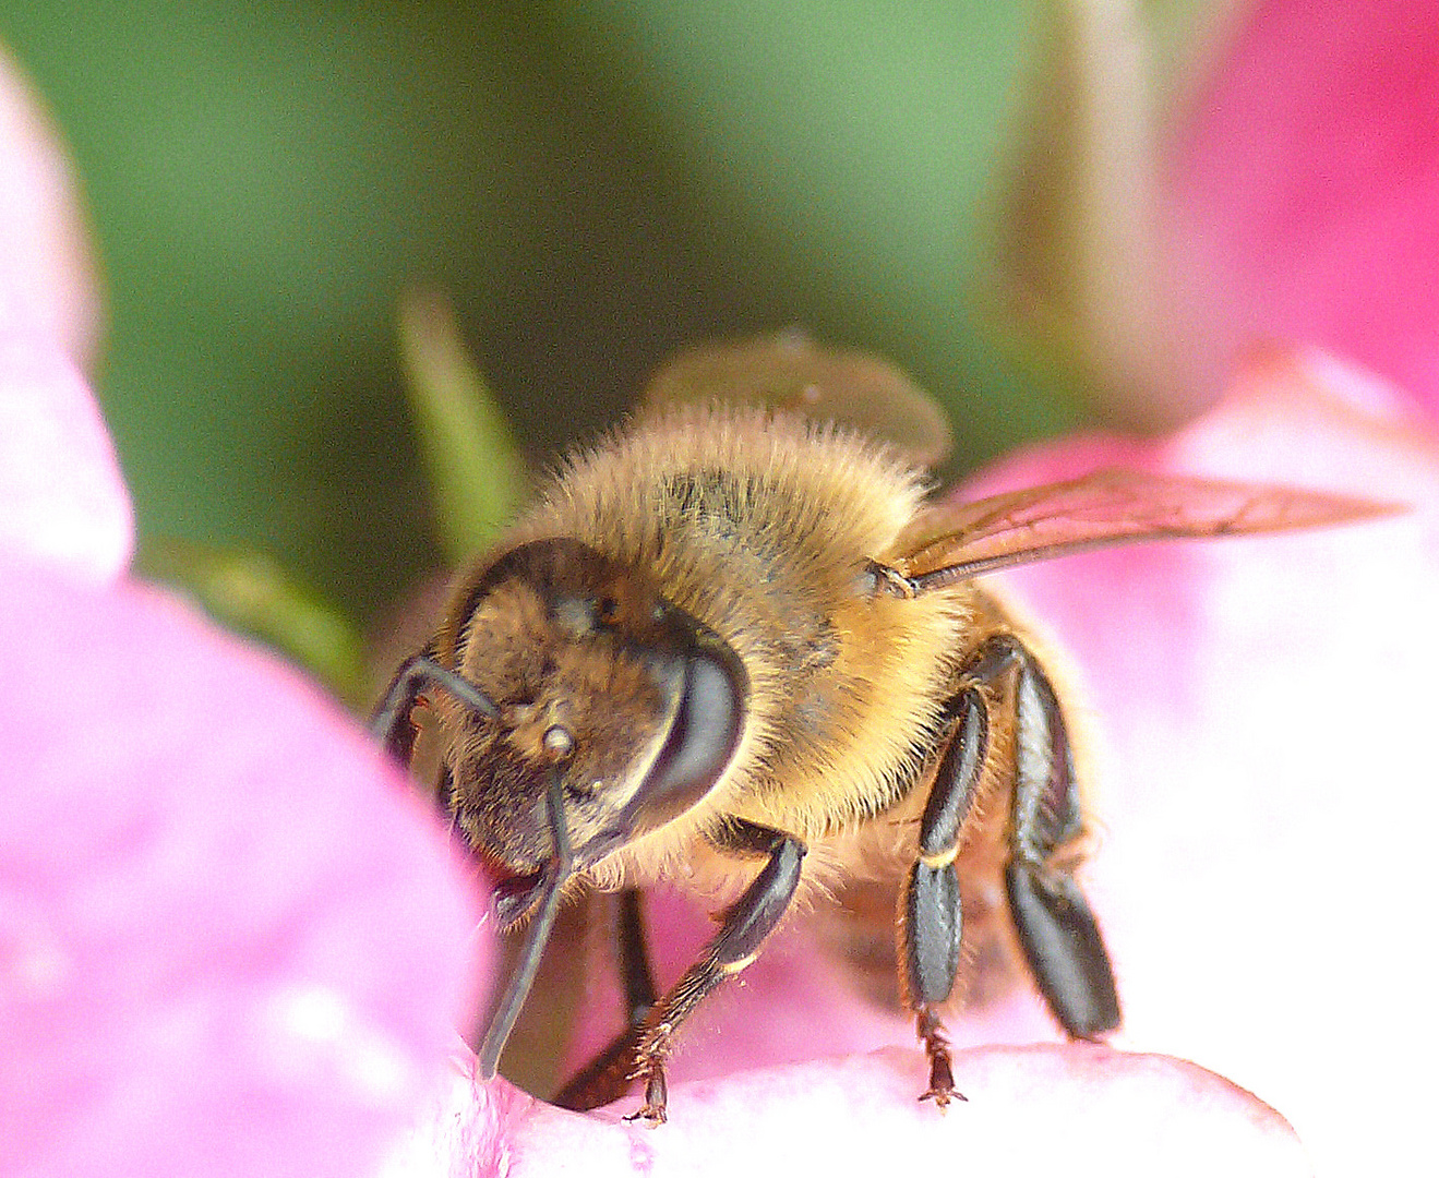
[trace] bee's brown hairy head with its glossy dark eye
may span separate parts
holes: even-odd
[[[709,627],[633,568],[576,539],[519,545],[463,590],[456,663],[495,715],[436,699],[448,805],[514,883],[515,912],[554,856],[560,775],[578,869],[694,805],[722,775],[748,693]]]

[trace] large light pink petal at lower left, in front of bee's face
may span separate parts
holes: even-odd
[[[6,1171],[368,1172],[475,1003],[443,834],[176,601],[0,574]]]

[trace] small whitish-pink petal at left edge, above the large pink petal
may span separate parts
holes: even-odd
[[[75,362],[42,335],[0,328],[0,557],[102,583],[132,544],[115,449]]]

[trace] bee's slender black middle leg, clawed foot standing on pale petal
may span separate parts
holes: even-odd
[[[954,1090],[950,1044],[935,1010],[954,990],[960,965],[964,921],[954,859],[989,749],[989,712],[977,689],[961,690],[948,711],[954,716],[950,746],[920,820],[920,857],[905,883],[899,921],[904,992],[930,1057],[930,1087],[920,1099],[941,1109],[966,1099]]]

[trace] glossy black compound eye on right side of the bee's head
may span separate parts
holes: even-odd
[[[675,721],[635,797],[636,833],[684,813],[720,780],[740,742],[743,682],[732,657],[701,652],[686,659]]]

